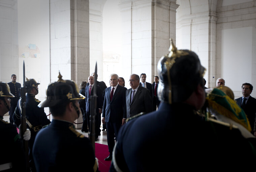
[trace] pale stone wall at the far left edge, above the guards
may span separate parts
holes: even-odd
[[[0,81],[10,82],[11,75],[19,75],[18,3],[0,0]]]

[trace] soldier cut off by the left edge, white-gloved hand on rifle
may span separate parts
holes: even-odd
[[[22,150],[22,142],[17,128],[13,124],[3,121],[3,115],[10,109],[10,98],[12,97],[14,96],[10,93],[9,85],[0,82],[0,171],[25,172],[25,153]],[[23,138],[24,140],[30,139],[29,130],[24,133]]]

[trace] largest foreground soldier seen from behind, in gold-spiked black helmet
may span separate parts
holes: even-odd
[[[204,71],[193,51],[178,50],[171,42],[169,54],[158,62],[159,109],[122,126],[110,171],[256,170],[256,138],[199,115]]]

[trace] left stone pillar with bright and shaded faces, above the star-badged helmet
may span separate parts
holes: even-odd
[[[50,1],[51,82],[60,71],[78,87],[89,73],[89,0]],[[75,121],[81,123],[82,115]],[[82,124],[76,125],[81,128]]]

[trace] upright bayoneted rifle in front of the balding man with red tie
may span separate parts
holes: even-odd
[[[95,116],[97,115],[96,109],[97,109],[97,62],[95,65],[95,73],[94,73],[94,89],[93,89],[93,95],[90,96],[90,134],[89,134],[89,138],[91,140],[92,146],[93,146],[93,150],[95,152]]]

